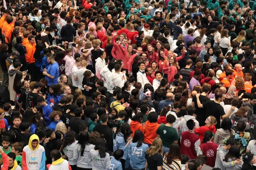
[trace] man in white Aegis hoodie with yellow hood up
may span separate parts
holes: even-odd
[[[44,170],[46,155],[43,146],[39,144],[39,138],[33,134],[30,136],[29,144],[23,148],[22,169],[23,170]]]

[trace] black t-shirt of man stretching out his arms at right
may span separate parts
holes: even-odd
[[[216,128],[220,128],[220,116],[225,115],[223,107],[213,100],[203,103],[203,107],[206,108],[206,116],[213,115],[217,120]]]

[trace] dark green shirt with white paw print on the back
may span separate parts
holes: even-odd
[[[160,135],[160,138],[163,141],[163,146],[167,148],[170,148],[171,144],[179,139],[177,131],[166,125],[159,126],[157,134]]]

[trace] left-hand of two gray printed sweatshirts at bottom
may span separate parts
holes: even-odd
[[[81,156],[81,144],[75,145],[74,156],[73,159],[77,160],[76,166],[79,168],[92,168],[92,159],[88,159],[91,157],[90,150],[95,147],[93,144],[85,145],[85,150],[83,156]]]

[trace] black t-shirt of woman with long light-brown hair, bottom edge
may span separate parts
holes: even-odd
[[[158,170],[158,167],[163,166],[163,156],[161,154],[154,154],[151,157],[146,154],[145,157],[148,162],[149,170]]]

